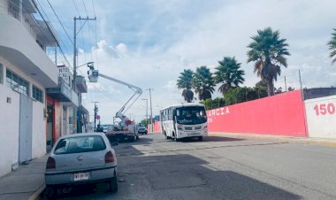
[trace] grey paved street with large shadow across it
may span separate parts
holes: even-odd
[[[65,199],[335,199],[336,148],[210,136],[203,142],[141,135],[120,143],[118,193],[106,184]]]

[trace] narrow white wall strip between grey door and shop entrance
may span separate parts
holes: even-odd
[[[43,114],[44,104],[41,102],[33,103],[33,158],[42,157],[46,153],[46,119]]]

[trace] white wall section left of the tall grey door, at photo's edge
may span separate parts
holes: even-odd
[[[0,176],[10,173],[19,160],[19,94],[4,84],[0,84]]]

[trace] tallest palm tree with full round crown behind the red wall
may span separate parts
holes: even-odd
[[[274,95],[274,81],[281,74],[280,66],[287,67],[289,52],[286,49],[286,39],[279,38],[279,30],[272,31],[271,27],[258,30],[257,35],[251,37],[253,42],[248,44],[248,63],[256,61],[255,73],[267,84],[268,96]]]

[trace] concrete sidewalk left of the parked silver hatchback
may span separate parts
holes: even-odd
[[[44,189],[44,170],[49,155],[20,165],[11,173],[0,177],[0,200],[36,199]]]

